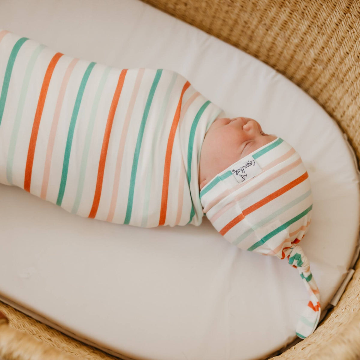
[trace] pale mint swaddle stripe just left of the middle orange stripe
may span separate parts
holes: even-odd
[[[77,213],[78,208],[80,206],[82,192],[84,190],[85,172],[86,172],[86,166],[87,166],[87,159],[89,158],[90,140],[91,140],[91,136],[93,135],[96,112],[98,111],[100,98],[103,93],[104,86],[105,86],[105,83],[108,78],[110,70],[111,70],[110,66],[108,66],[104,70],[103,76],[99,82],[98,90],[96,90],[96,94],[94,96],[93,106],[91,107],[89,123],[87,124],[84,149],[82,150],[80,175],[79,175],[79,181],[77,183],[76,197],[75,197],[75,201],[74,201],[74,204],[73,204],[73,207],[71,210],[71,212],[73,214]]]

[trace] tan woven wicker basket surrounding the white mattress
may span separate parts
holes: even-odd
[[[144,1],[284,74],[338,122],[360,159],[358,0]],[[340,301],[315,332],[272,359],[359,359],[359,279],[358,260]],[[71,355],[115,359],[1,302],[0,310],[10,321],[7,324],[0,315],[0,357],[4,360],[73,359]],[[22,334],[21,338],[16,334]],[[39,356],[33,355],[35,349]]]

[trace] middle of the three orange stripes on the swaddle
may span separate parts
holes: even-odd
[[[91,211],[89,214],[89,217],[91,217],[91,218],[94,218],[96,216],[96,212],[98,212],[98,208],[99,208],[101,190],[103,188],[105,162],[106,162],[106,155],[108,153],[111,128],[112,128],[112,124],[114,121],[117,104],[119,102],[122,86],[124,85],[127,70],[128,69],[122,69],[122,71],[120,73],[119,80],[117,82],[117,86],[115,89],[115,93],[114,93],[114,96],[113,96],[113,99],[111,102],[111,106],[110,106],[110,110],[109,110],[109,114],[108,114],[108,120],[106,123],[104,139],[103,139],[103,145],[102,145],[101,153],[100,153],[98,178],[96,180],[96,188],[95,188],[93,206],[91,207]]]

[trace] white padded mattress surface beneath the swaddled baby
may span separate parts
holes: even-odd
[[[229,117],[255,118],[292,144],[312,184],[300,245],[324,311],[357,245],[359,178],[341,130],[314,100],[138,0],[3,0],[0,28],[118,68],[175,70]],[[85,342],[123,358],[250,360],[296,339],[309,301],[298,271],[229,244],[206,217],[199,227],[116,225],[5,185],[0,202],[1,298]]]

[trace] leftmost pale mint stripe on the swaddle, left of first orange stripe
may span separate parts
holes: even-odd
[[[15,154],[15,147],[18,139],[19,129],[20,129],[20,122],[22,113],[24,110],[24,103],[26,99],[27,90],[30,83],[31,74],[33,71],[33,68],[35,66],[37,57],[41,53],[41,50],[44,49],[46,46],[43,44],[40,44],[32,53],[31,58],[27,64],[27,68],[25,71],[24,80],[21,87],[21,93],[18,103],[17,112],[15,115],[15,121],[13,125],[13,130],[11,133],[10,138],[10,145],[9,145],[9,151],[8,151],[8,159],[6,161],[6,179],[10,184],[13,183],[13,163],[14,163],[14,154]]]

